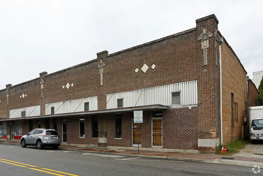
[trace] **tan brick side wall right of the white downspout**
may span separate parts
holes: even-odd
[[[223,143],[227,143],[242,138],[242,125],[244,125],[246,110],[245,100],[247,100],[247,73],[226,40],[221,45],[221,53]],[[233,102],[238,103],[237,118],[233,117],[234,126],[231,126],[231,93],[234,94]]]

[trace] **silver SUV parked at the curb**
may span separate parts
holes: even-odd
[[[20,143],[23,148],[36,145],[38,149],[44,146],[57,149],[60,146],[60,136],[56,130],[36,128],[22,136]]]

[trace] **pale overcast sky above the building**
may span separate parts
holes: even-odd
[[[196,27],[218,30],[250,79],[263,70],[263,1],[0,0],[0,90]]]

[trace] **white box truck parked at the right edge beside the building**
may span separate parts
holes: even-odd
[[[252,144],[263,140],[263,106],[249,107],[249,132]]]

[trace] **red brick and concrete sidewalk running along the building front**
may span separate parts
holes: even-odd
[[[1,144],[20,145],[19,140],[0,140]],[[199,154],[199,153],[184,153],[184,152],[173,152],[173,151],[154,151],[140,149],[121,149],[121,148],[104,148],[104,147],[90,147],[90,146],[79,146],[79,145],[66,145],[61,144],[58,148],[72,151],[86,151],[91,153],[100,154],[114,154],[132,157],[149,157],[159,159],[170,159],[170,160],[182,160],[182,161],[200,161],[209,163],[221,163],[231,164],[237,166],[254,167],[259,166],[263,168],[263,158],[251,158],[251,157],[237,157],[231,155],[216,155],[216,154]],[[226,159],[222,159],[226,157]],[[234,159],[232,159],[234,158]]]

